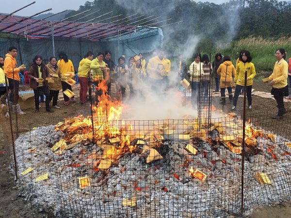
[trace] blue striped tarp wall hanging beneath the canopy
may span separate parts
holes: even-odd
[[[144,29],[144,31],[121,35],[119,37],[119,43],[117,37],[97,42],[82,38],[55,37],[54,45],[56,56],[58,52],[65,51],[69,59],[73,62],[74,67],[78,68],[80,60],[87,51],[93,51],[96,56],[99,51],[105,52],[106,50],[110,50],[112,52],[112,60],[117,63],[121,55],[125,55],[126,60],[128,60],[135,53],[151,52],[156,47],[162,47],[162,40],[163,34],[161,29]],[[8,53],[8,48],[11,46],[15,46],[18,49],[16,61],[19,65],[25,64],[26,66],[30,66],[35,55],[41,55],[43,59],[49,59],[53,56],[51,37],[43,39],[0,39],[0,56],[5,58],[5,54]]]

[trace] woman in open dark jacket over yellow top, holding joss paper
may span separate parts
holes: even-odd
[[[33,59],[33,63],[28,70],[28,78],[30,78],[30,87],[34,92],[34,104],[35,112],[39,112],[39,93],[43,92],[46,95],[46,111],[53,112],[49,108],[49,89],[48,89],[48,80],[50,78],[49,71],[47,66],[42,62],[42,57],[36,55]]]

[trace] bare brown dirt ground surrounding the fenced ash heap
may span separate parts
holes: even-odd
[[[271,88],[262,84],[259,79],[255,82],[253,88],[256,91],[270,92]],[[60,96],[62,93],[60,93]],[[79,98],[77,98],[77,101]],[[220,105],[220,98],[214,97],[212,103],[218,107],[222,108]],[[242,103],[243,99],[239,98],[239,103],[237,106],[237,114],[242,114]],[[37,127],[40,125],[49,125],[56,124],[58,121],[62,121],[65,117],[74,116],[74,114],[83,113],[89,114],[88,107],[89,106],[81,106],[77,103],[70,103],[69,107],[65,107],[63,105],[63,101],[60,101],[59,106],[61,109],[54,109],[55,113],[45,113],[44,104],[40,109],[40,113],[35,114],[34,109],[28,109],[24,116],[18,116],[19,125],[19,133],[24,133],[26,131],[31,130],[33,127]],[[224,106],[224,111],[229,112],[231,109],[231,104],[227,103]],[[253,96],[253,111],[247,111],[247,116],[250,116],[250,113],[253,113],[253,117],[264,117],[265,120],[271,120],[271,115],[274,115],[276,110],[275,100],[262,98],[260,96]],[[291,102],[285,104],[286,108],[289,109],[291,106]],[[265,113],[262,111],[269,111],[269,113]],[[254,118],[256,119],[256,118]],[[265,122],[265,126],[268,128],[272,128],[274,126],[280,126],[280,128],[275,128],[274,131],[282,130],[282,135],[288,135],[288,132],[284,131],[286,129],[290,129],[290,121],[291,121],[291,111],[289,111],[284,120],[289,122]],[[9,172],[8,165],[11,163],[12,158],[10,156],[10,149],[7,147],[7,141],[11,141],[11,139],[6,139],[3,136],[3,131],[10,131],[9,126],[1,125],[0,128],[0,218],[13,217],[13,218],[47,218],[53,217],[52,214],[43,211],[41,208],[36,208],[30,204],[30,202],[26,202],[24,197],[19,195],[19,190],[15,186],[15,178]],[[289,135],[290,137],[290,135]],[[248,217],[253,218],[286,218],[291,217],[291,202],[285,203],[282,205],[271,206],[268,208],[262,208],[256,210]]]

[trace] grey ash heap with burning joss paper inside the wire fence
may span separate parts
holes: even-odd
[[[203,138],[203,131],[195,131],[195,125],[189,127],[189,120],[182,121],[186,123],[187,128],[173,121],[172,127],[182,132],[155,125],[158,133],[154,127],[152,135],[142,129],[146,125],[134,126],[138,130],[130,131],[135,137],[120,131],[119,138],[101,138],[95,144],[90,134],[69,136],[69,144],[64,124],[38,127],[16,140],[21,194],[56,216],[176,218],[239,213],[242,156],[231,148],[231,141],[213,144]],[[245,158],[248,211],[291,196],[290,143],[257,132],[256,155]],[[219,127],[210,135],[217,139]]]

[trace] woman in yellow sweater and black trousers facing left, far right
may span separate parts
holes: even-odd
[[[283,98],[288,96],[288,63],[285,61],[286,51],[284,48],[279,48],[275,51],[275,66],[272,75],[269,77],[269,86],[273,86],[271,94],[277,102],[278,114],[272,117],[273,119],[282,119],[287,113]]]

